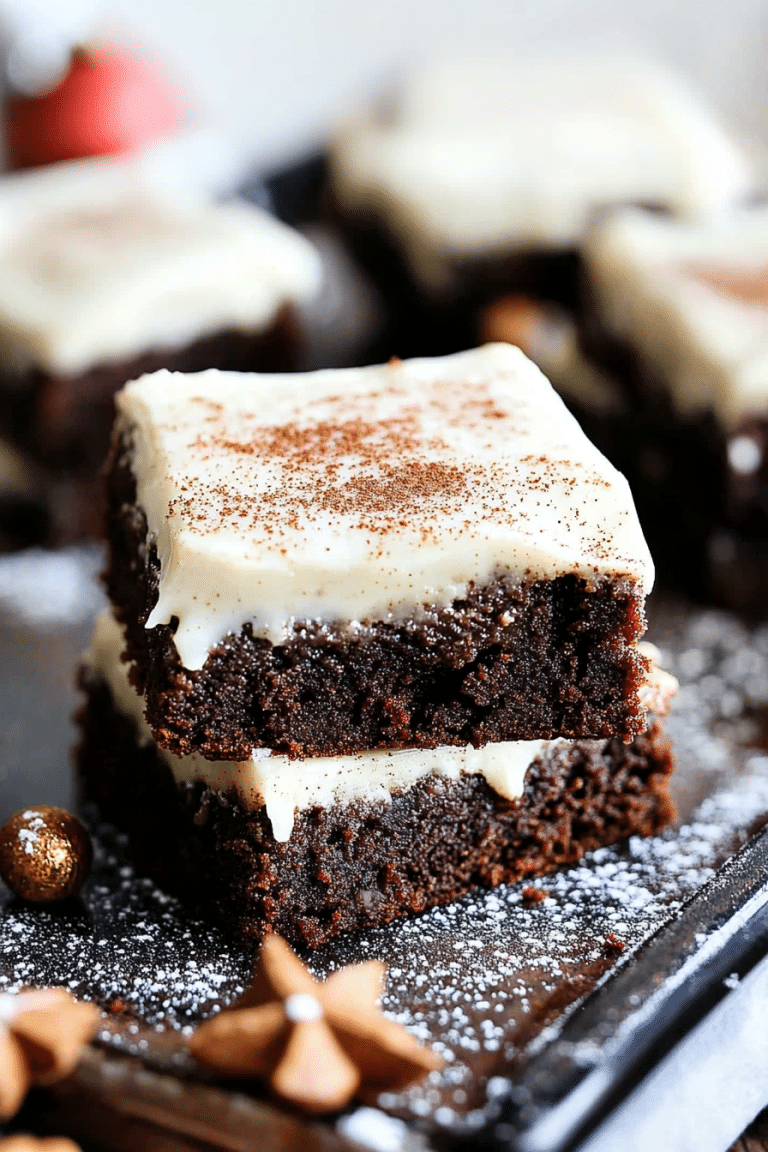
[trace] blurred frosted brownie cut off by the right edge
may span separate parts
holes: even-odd
[[[593,232],[585,265],[581,349],[625,411],[600,444],[654,552],[680,583],[708,569],[710,591],[765,614],[768,209],[698,223],[624,212]]]

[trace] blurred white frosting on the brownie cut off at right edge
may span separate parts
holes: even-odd
[[[629,342],[683,415],[729,429],[768,409],[768,207],[699,222],[624,211],[584,259],[602,325]]]

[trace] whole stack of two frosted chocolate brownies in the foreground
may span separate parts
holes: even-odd
[[[670,819],[632,499],[517,349],[117,410],[78,765],[168,889],[315,946]]]

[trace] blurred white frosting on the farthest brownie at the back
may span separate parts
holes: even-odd
[[[682,81],[615,56],[429,68],[337,132],[330,168],[342,209],[383,221],[435,294],[454,262],[573,247],[607,206],[701,215],[754,185]]]

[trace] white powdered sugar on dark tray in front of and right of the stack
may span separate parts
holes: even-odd
[[[318,975],[386,961],[385,1010],[447,1060],[425,1084],[381,1097],[388,1114],[431,1129],[480,1126],[519,1053],[555,1036],[564,1015],[616,963],[631,963],[633,948],[765,821],[768,628],[662,605],[652,636],[680,681],[669,718],[680,759],[678,829],[600,849],[535,888],[476,892],[310,957]],[[187,1067],[178,1033],[236,999],[250,968],[245,952],[137,877],[121,839],[104,828],[79,914],[9,902],[0,918],[0,992],[61,984],[96,999],[109,1015],[104,1044],[178,1070]],[[359,1123],[375,1146],[394,1146],[402,1130],[368,1123],[375,1119]]]

